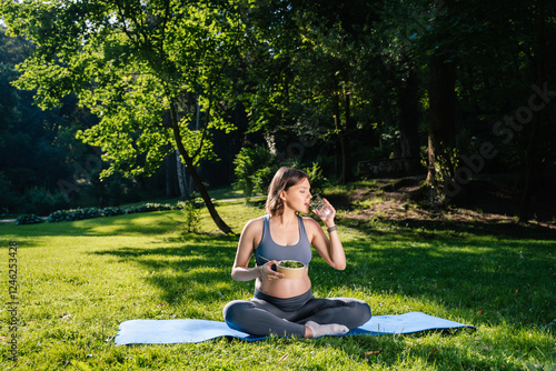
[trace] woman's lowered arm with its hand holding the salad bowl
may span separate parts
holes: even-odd
[[[264,265],[248,268],[251,254],[258,245],[259,238],[262,235],[262,220],[254,219],[249,221],[239,238],[236,260],[231,268],[231,278],[236,281],[251,281],[257,278],[276,280],[282,278],[282,273],[272,271],[271,267],[278,264],[278,261],[269,261]]]

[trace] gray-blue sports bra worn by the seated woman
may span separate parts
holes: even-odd
[[[305,231],[304,220],[297,215],[299,225],[299,241],[294,245],[281,245],[272,241],[270,235],[270,214],[264,217],[262,239],[255,249],[255,261],[257,265],[262,265],[269,260],[297,260],[306,265],[311,261],[311,244]],[[265,259],[264,259],[265,258]]]

